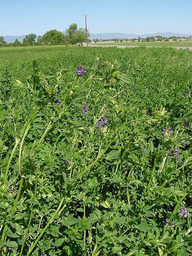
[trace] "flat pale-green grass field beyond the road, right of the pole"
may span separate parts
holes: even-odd
[[[91,43],[95,45],[95,43]],[[97,43],[97,45],[138,45],[138,46],[161,46],[161,47],[188,47],[192,46],[192,42],[130,42],[130,43]]]

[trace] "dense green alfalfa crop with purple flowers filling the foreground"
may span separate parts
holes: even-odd
[[[192,52],[0,56],[2,255],[190,256]]]

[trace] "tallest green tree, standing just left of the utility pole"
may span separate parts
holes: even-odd
[[[76,23],[72,23],[69,25],[69,28],[66,29],[66,36],[72,44],[83,43],[86,40],[86,31],[85,28],[78,28]]]

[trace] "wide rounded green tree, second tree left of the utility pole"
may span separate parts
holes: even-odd
[[[41,38],[43,42],[48,43],[62,43],[66,41],[66,37],[64,34],[60,31],[57,31],[56,29],[47,31]]]

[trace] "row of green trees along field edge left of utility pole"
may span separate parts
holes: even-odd
[[[89,33],[88,33],[89,36]],[[78,28],[76,23],[69,25],[65,32],[57,31],[56,29],[47,31],[43,36],[36,34],[28,34],[24,37],[21,43],[17,38],[14,43],[7,44],[3,36],[0,36],[0,45],[48,45],[48,44],[82,44],[86,40],[85,28]]]

